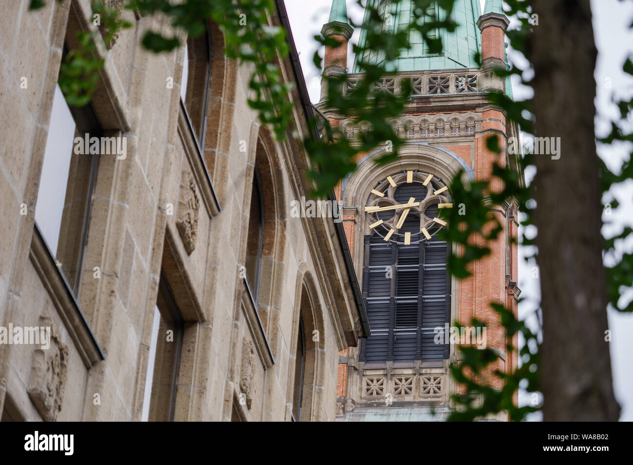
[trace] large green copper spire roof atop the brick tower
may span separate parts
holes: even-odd
[[[385,28],[393,30],[396,25],[403,27],[414,20],[412,0],[401,0],[398,6],[391,0],[370,0],[371,4],[379,10],[379,13],[387,17],[391,13],[393,20],[385,22]],[[500,4],[500,1],[499,1]],[[334,8],[334,7],[333,7]],[[369,12],[365,12],[365,21]],[[427,14],[436,15],[440,20],[446,12],[436,3],[430,6]],[[481,32],[477,27],[477,20],[481,16],[479,0],[456,0],[451,17],[458,23],[454,32],[436,31],[441,34],[444,51],[441,54],[430,54],[422,35],[412,31],[409,37],[411,48],[404,51],[400,58],[393,63],[387,63],[389,71],[427,71],[427,70],[454,70],[459,68],[478,68],[474,56],[481,49]],[[331,16],[330,16],[331,18]],[[365,47],[365,31],[361,32],[359,46]],[[360,72],[359,60],[368,60],[369,63],[380,63],[384,57],[367,51],[363,56],[354,59],[354,73]]]

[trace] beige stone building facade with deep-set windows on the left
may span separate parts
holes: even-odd
[[[342,225],[291,216],[312,111],[292,40],[278,142],[217,25],[156,55],[140,38],[166,25],[124,11],[78,109],[57,83],[90,2],[29,3],[0,18],[2,421],[334,420],[369,331]]]

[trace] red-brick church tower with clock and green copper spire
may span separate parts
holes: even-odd
[[[411,0],[397,5],[391,0],[368,1],[385,18],[390,15],[387,28],[413,18]],[[444,11],[431,4],[426,13],[438,17]],[[500,388],[493,371],[517,367],[516,352],[506,352],[505,332],[489,307],[489,302],[499,302],[517,314],[520,290],[513,240],[518,230],[517,206],[491,206],[504,231],[487,244],[491,254],[474,263],[472,276],[465,280],[446,271],[451,247],[457,252],[457,246],[436,236],[446,225],[438,218],[439,209],[458,208],[448,189],[455,175],[461,172],[471,182],[487,180],[495,162],[520,170],[518,156],[505,149],[510,137],[518,137],[518,127],[487,98],[491,91],[512,98],[510,79],[492,71],[508,66],[505,30],[509,20],[501,0],[487,0],[483,13],[479,0],[457,0],[452,15],[459,24],[456,30],[436,32],[442,34],[441,54],[431,54],[422,37],[411,32],[411,48],[389,63],[390,72],[379,83],[382,90],[392,93],[399,92],[404,80],[413,87],[403,115],[389,121],[407,142],[399,149],[398,159],[375,164],[385,147],[361,154],[356,170],[335,189],[371,330],[370,337],[358,347],[343,350],[339,357],[337,419],[341,421],[445,419],[455,408],[451,395],[460,392],[448,369],[458,363],[460,352],[448,334],[439,340],[437,335],[443,336],[457,322],[469,325],[472,318],[486,322],[485,332],[475,328],[466,333],[471,334],[472,344],[485,344],[499,354],[482,380]],[[326,48],[324,74],[348,72],[353,29],[345,0],[332,1],[322,34],[341,44]],[[361,32],[361,47],[365,40]],[[475,62],[477,53],[481,67]],[[379,63],[382,59],[371,51],[356,56],[346,89],[353,89],[362,77],[361,60]],[[320,110],[333,127],[341,128],[344,137],[360,140],[368,128],[327,108],[325,92],[323,86]],[[487,149],[491,135],[498,135],[501,155]],[[464,218],[468,221],[468,206]],[[517,340],[513,343],[516,347]],[[506,420],[507,415],[490,419]]]

